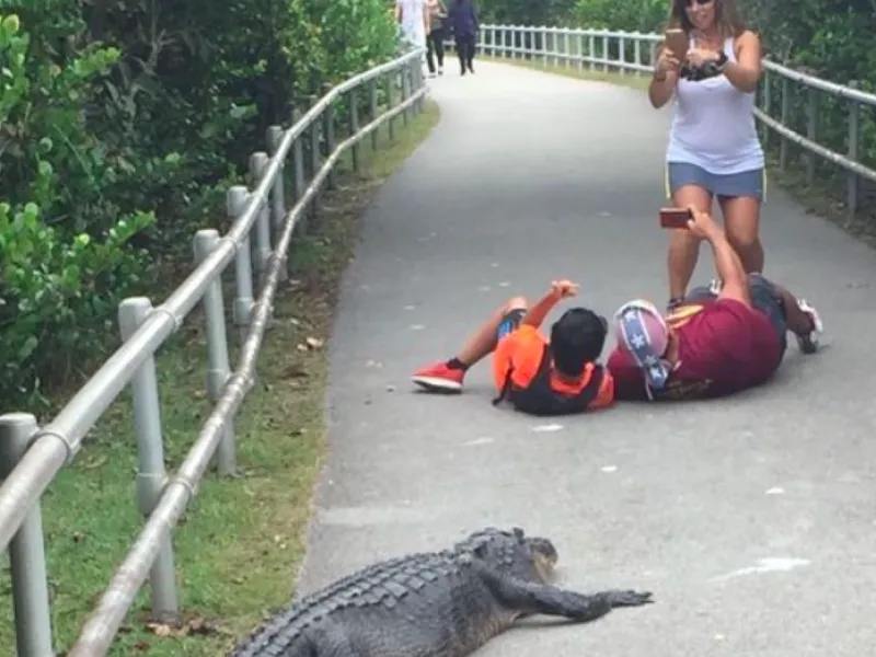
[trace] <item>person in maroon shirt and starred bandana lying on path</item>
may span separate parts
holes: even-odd
[[[667,316],[643,300],[620,308],[607,362],[618,400],[717,397],[759,385],[779,369],[787,331],[804,354],[818,349],[818,312],[762,275],[746,275],[724,230],[692,211],[689,229],[712,245],[723,283],[691,290]]]

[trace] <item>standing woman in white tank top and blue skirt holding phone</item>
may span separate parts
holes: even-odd
[[[759,237],[764,191],[763,149],[754,125],[762,71],[758,36],[736,18],[733,0],[671,0],[670,27],[684,32],[683,61],[661,44],[648,97],[655,108],[676,96],[666,151],[672,205],[708,212],[717,196],[727,239],[747,273],[763,270]],[[669,306],[687,292],[700,241],[672,231]],[[715,287],[717,287],[716,284]]]

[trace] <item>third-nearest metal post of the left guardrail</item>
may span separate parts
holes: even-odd
[[[231,189],[235,189],[232,187]],[[231,191],[229,191],[231,192]],[[195,233],[193,250],[195,263],[200,264],[219,244],[219,231],[204,229]],[[242,249],[239,249],[239,252]],[[226,336],[226,312],[222,304],[222,281],[217,277],[204,292],[204,316],[207,337],[207,396],[214,403],[222,396],[222,389],[231,378],[228,361],[228,338]],[[249,318],[247,318],[249,323]],[[222,441],[217,449],[217,464],[221,476],[234,474],[237,456],[234,453],[234,425],[232,418],[226,419]]]

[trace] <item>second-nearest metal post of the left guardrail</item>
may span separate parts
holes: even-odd
[[[118,330],[127,342],[152,312],[147,297],[128,297],[118,304]],[[164,446],[161,430],[161,402],[158,393],[154,356],[143,360],[130,380],[134,399],[134,430],[137,437],[137,510],[149,518],[164,489]],[[170,532],[164,534],[149,572],[152,620],[170,623],[177,619],[176,569]]]

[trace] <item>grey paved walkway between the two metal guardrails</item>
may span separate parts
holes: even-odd
[[[569,276],[606,313],[666,293],[668,112],[634,90],[477,66],[459,78],[451,61],[431,82],[441,123],[366,217],[332,341],[331,452],[302,591],[519,525],[555,540],[563,584],[645,588],[657,603],[533,622],[479,655],[872,653],[876,256],[781,191],[764,208],[766,273],[819,307],[830,344],[816,357],[789,346],[768,387],[552,433],[494,410],[483,366],[462,396],[413,392],[412,370],[449,357],[511,292]],[[711,273],[704,250],[698,278]]]

